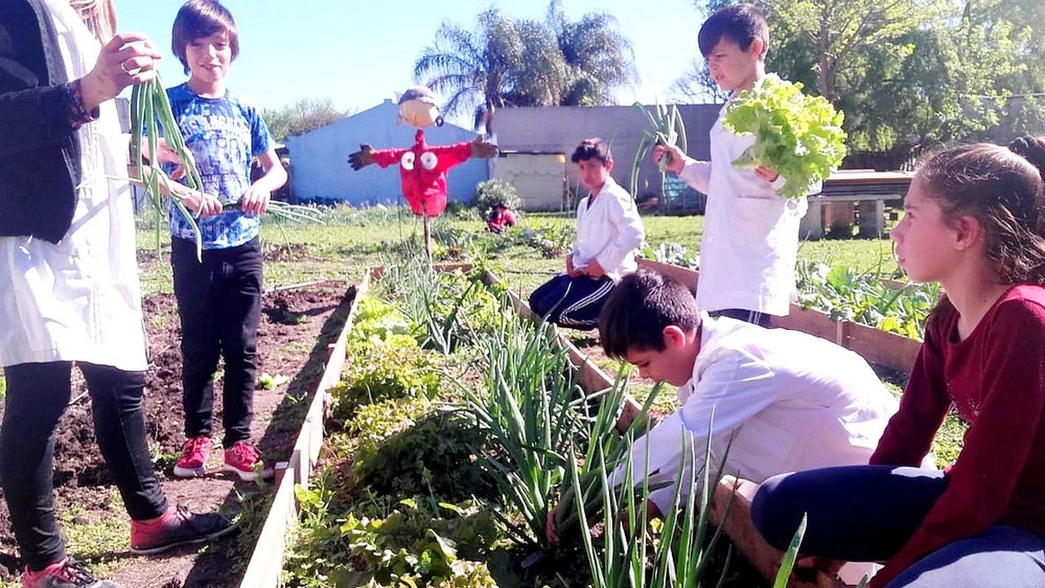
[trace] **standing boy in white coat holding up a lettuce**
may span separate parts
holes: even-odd
[[[697,42],[715,83],[732,93],[729,101],[766,76],[769,27],[754,6],[735,4],[713,14]],[[697,304],[712,316],[767,327],[771,315],[786,315],[790,307],[798,222],[807,205],[777,194],[785,181],[776,170],[733,165],[756,138],[723,126],[728,105],[711,131],[711,161],[671,145],[655,147],[653,158],[670,158],[669,171],[707,194]],[[810,193],[818,191],[816,184]]]

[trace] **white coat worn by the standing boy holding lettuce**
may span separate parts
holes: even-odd
[[[798,222],[807,203],[776,195],[783,178],[770,184],[753,169],[734,167],[734,160],[754,144],[754,136],[738,136],[722,126],[726,107],[712,126],[712,160],[688,158],[678,175],[707,194],[697,304],[702,310],[786,315],[794,290]],[[814,187],[810,193],[818,191]]]

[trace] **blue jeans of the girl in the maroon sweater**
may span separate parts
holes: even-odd
[[[892,466],[782,474],[759,488],[751,517],[779,549],[787,548],[806,513],[803,556],[883,561],[914,534],[947,483],[940,471]],[[1045,587],[1045,538],[995,525],[929,554],[889,586]]]

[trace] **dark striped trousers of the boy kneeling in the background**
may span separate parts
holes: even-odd
[[[530,295],[530,308],[549,323],[574,329],[599,326],[599,312],[616,284],[603,276],[571,278],[565,274],[544,282]]]

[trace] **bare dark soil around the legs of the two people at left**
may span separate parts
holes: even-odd
[[[341,282],[324,282],[303,288],[278,290],[262,299],[258,332],[258,374],[284,376],[288,383],[254,394],[253,440],[271,463],[288,458],[307,407],[327,360],[327,345],[344,326],[354,297],[354,287]],[[271,485],[233,481],[220,473],[198,479],[178,479],[170,474],[184,441],[184,413],[181,386],[180,321],[171,295],[154,295],[143,301],[148,332],[149,368],[144,397],[148,444],[169,500],[193,511],[222,509],[230,516],[264,508],[271,499]],[[220,370],[217,378],[220,377]],[[215,381],[215,448],[208,461],[217,471],[222,464],[220,381]],[[94,439],[90,398],[83,378],[73,371],[73,403],[63,417],[55,434],[54,486],[61,512],[69,504],[87,510],[84,518],[125,517],[111,508],[114,487]],[[2,407],[0,407],[2,415]],[[245,498],[240,499],[240,496]],[[116,512],[118,511],[118,512]],[[252,520],[260,516],[247,513]],[[13,580],[21,563],[7,521],[7,504],[0,500],[0,581]],[[246,519],[245,519],[246,520]],[[255,521],[256,522],[256,521]],[[247,524],[239,539],[223,541],[203,551],[186,548],[156,558],[137,558],[114,545],[116,559],[113,580],[124,587],[145,586],[234,586],[246,568],[256,524]]]

